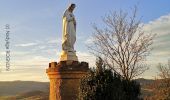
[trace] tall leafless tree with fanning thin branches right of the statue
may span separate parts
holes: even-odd
[[[101,56],[107,66],[127,80],[148,69],[144,60],[151,50],[154,38],[154,34],[142,31],[136,11],[134,8],[131,16],[123,11],[105,16],[105,28],[94,25],[94,41],[89,46],[93,54]]]

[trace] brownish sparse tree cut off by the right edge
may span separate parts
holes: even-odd
[[[147,100],[170,100],[170,60],[168,64],[158,64],[159,77],[153,83],[153,95]]]

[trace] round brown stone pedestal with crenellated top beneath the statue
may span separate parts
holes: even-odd
[[[88,73],[88,63],[52,62],[46,72],[50,79],[50,100],[76,100],[80,79]]]

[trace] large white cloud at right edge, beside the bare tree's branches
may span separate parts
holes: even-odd
[[[153,41],[152,55],[160,59],[162,59],[161,57],[170,56],[170,14],[145,24],[144,31],[157,34]]]

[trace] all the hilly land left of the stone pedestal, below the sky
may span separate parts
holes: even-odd
[[[0,82],[0,100],[48,100],[48,94],[49,82]]]

